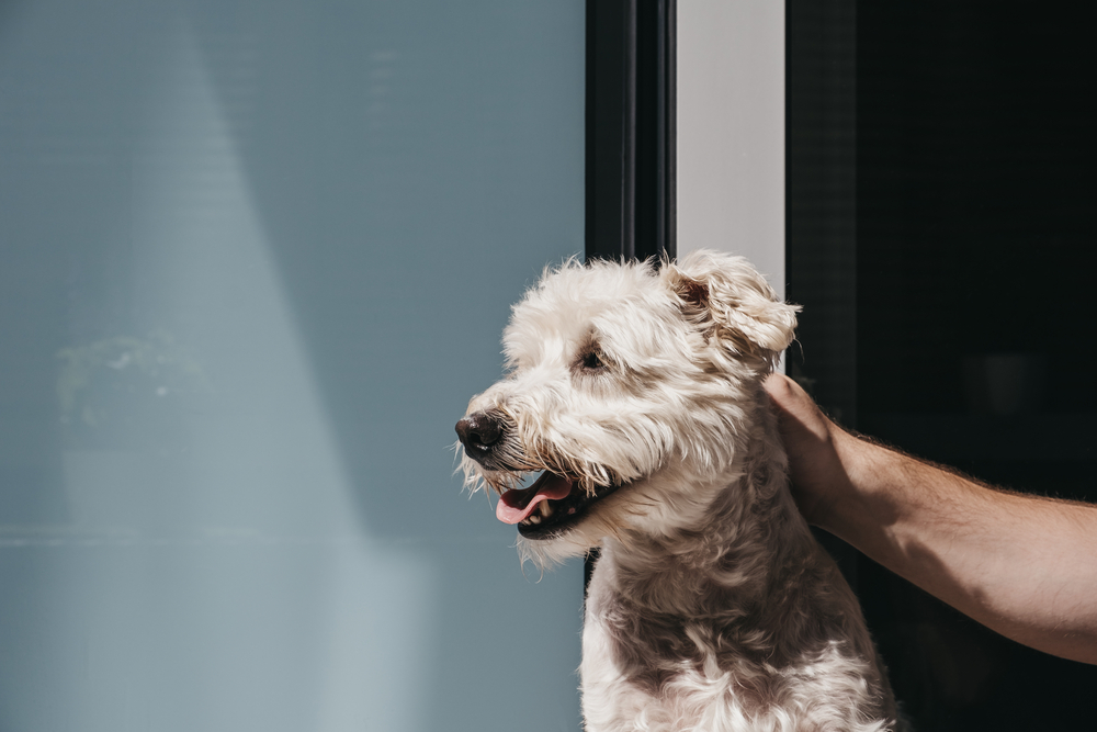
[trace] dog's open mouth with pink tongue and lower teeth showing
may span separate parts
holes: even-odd
[[[578,523],[597,500],[620,485],[600,485],[593,494],[577,489],[576,482],[545,471],[528,488],[512,488],[502,494],[496,518],[517,523],[527,539],[552,539]]]

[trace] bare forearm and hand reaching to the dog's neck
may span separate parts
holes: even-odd
[[[982,485],[855,437],[788,376],[766,391],[811,523],[1007,638],[1097,664],[1097,506]]]

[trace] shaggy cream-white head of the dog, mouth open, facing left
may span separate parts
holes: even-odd
[[[697,525],[733,476],[799,308],[745,259],[568,261],[513,307],[508,375],[457,423],[474,489],[542,563],[610,534]],[[521,481],[541,476],[529,487]]]

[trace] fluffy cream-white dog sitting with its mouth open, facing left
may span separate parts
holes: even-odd
[[[714,251],[573,259],[514,305],[508,374],[456,425],[461,468],[499,494],[523,561],[600,548],[587,732],[895,728],[857,599],[793,503],[761,386],[799,309]]]

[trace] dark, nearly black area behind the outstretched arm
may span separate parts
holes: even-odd
[[[790,372],[908,452],[1097,500],[1097,4],[788,7]],[[1092,727],[1097,667],[832,547],[916,729]]]

